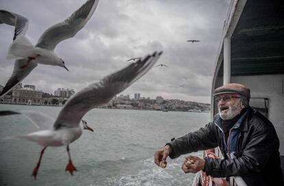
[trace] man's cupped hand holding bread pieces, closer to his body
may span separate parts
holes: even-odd
[[[196,173],[204,169],[205,159],[201,159],[197,156],[185,157],[185,161],[182,163],[182,170],[185,173]]]

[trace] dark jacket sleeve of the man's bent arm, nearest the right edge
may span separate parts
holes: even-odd
[[[259,118],[250,122],[246,146],[241,156],[233,159],[205,158],[205,172],[213,177],[244,176],[259,172],[279,148],[279,139],[272,124]]]

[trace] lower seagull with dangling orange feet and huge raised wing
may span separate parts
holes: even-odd
[[[67,146],[69,163],[65,170],[73,175],[73,171],[76,171],[76,168],[71,161],[69,144],[82,135],[83,129],[93,131],[93,129],[87,126],[86,121],[82,120],[83,116],[89,110],[108,103],[113,96],[119,94],[119,92],[128,88],[134,81],[145,75],[154,66],[161,54],[162,51],[146,55],[143,59],[139,59],[137,62],[126,66],[126,68],[83,88],[65,103],[56,120],[36,111],[0,111],[0,116],[23,114],[40,129],[34,133],[17,136],[43,146],[32,176],[36,179],[40,161],[47,146]]]

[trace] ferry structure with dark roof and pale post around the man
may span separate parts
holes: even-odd
[[[227,83],[250,88],[250,106],[274,124],[284,174],[284,1],[230,1],[215,60],[211,120],[217,114],[213,91]],[[222,158],[219,148],[213,152],[204,151],[204,155]],[[246,185],[237,176],[226,183],[213,179],[198,172],[193,185]]]

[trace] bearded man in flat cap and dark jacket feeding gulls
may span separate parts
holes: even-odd
[[[213,177],[241,176],[247,185],[284,185],[279,138],[272,123],[250,108],[250,90],[230,83],[215,89],[214,98],[219,114],[213,122],[157,150],[154,162],[165,167],[167,156],[174,159],[220,146],[224,159],[188,156],[182,170],[185,173],[203,170]]]

